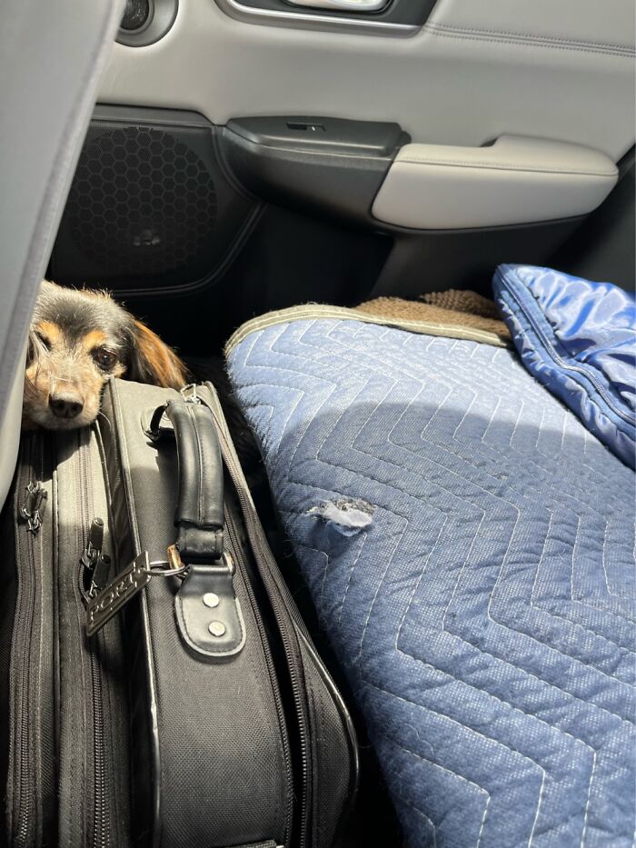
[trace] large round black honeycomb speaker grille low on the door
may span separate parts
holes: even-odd
[[[217,200],[204,161],[174,135],[125,126],[84,146],[66,205],[76,244],[109,274],[166,274],[201,258]]]

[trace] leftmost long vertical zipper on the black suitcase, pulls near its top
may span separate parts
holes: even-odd
[[[50,740],[43,723],[33,719],[34,710],[36,716],[41,714],[41,703],[46,697],[42,691],[46,673],[41,667],[45,656],[40,644],[50,644],[51,641],[42,638],[45,627],[45,540],[40,532],[45,522],[48,498],[48,490],[40,482],[45,475],[44,450],[39,434],[23,438],[21,472],[15,492],[17,596],[10,661],[14,718],[9,762],[13,763],[14,780],[7,808],[11,816],[11,845],[31,848],[43,844],[53,815],[53,756],[47,757],[43,750]],[[25,494],[22,495],[22,492]],[[20,497],[22,504],[18,506]],[[47,790],[50,790],[50,797]]]

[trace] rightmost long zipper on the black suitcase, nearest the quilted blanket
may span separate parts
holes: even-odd
[[[193,392],[193,394],[184,394],[184,399],[189,403],[204,403],[214,415],[214,420],[217,424],[216,431],[222,445],[224,446],[224,462],[234,483],[234,492],[236,493],[239,503],[241,504],[241,511],[243,513],[243,518],[245,519],[245,524],[247,525],[248,536],[255,549],[254,561],[258,566],[261,560],[263,560],[271,574],[275,572],[275,570],[278,568],[278,565],[273,560],[273,554],[269,550],[269,545],[262,544],[261,542],[262,531],[260,527],[260,521],[258,515],[255,512],[252,498],[249,495],[245,494],[244,486],[242,484],[243,469],[234,457],[234,451],[231,450],[231,447],[228,444],[228,439],[224,432],[224,427],[219,425],[217,416],[214,412],[214,408],[210,404],[208,404],[203,398],[201,398],[199,394],[197,394],[196,386],[186,387],[184,392],[188,389]],[[293,703],[297,717],[302,792],[300,795],[299,803],[300,823],[296,844],[299,846],[299,848],[304,848],[304,846],[308,844],[310,825],[310,798],[312,797],[313,781],[311,770],[311,749],[309,745],[309,707],[306,701],[305,689],[303,684],[300,645],[298,643],[298,637],[293,631],[293,624],[292,627],[288,625],[290,617],[287,613],[286,608],[284,607],[282,599],[278,596],[277,592],[272,591],[271,587],[268,585],[268,574],[265,574],[264,569],[261,568],[259,568],[259,572],[263,579],[263,585],[265,586],[265,589],[268,594],[269,602],[273,611],[273,616],[278,626],[279,634],[281,636],[281,642],[283,643],[283,651],[287,660],[287,668],[290,676]],[[245,582],[249,584],[249,581]],[[279,588],[278,584],[276,584],[276,588]]]

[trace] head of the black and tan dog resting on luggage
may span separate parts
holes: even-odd
[[[184,364],[108,294],[44,282],[35,304],[25,374],[25,425],[91,424],[109,376],[182,388]]]

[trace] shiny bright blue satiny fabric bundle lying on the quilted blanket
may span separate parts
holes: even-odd
[[[500,265],[492,286],[526,368],[633,468],[634,295],[532,265]]]

